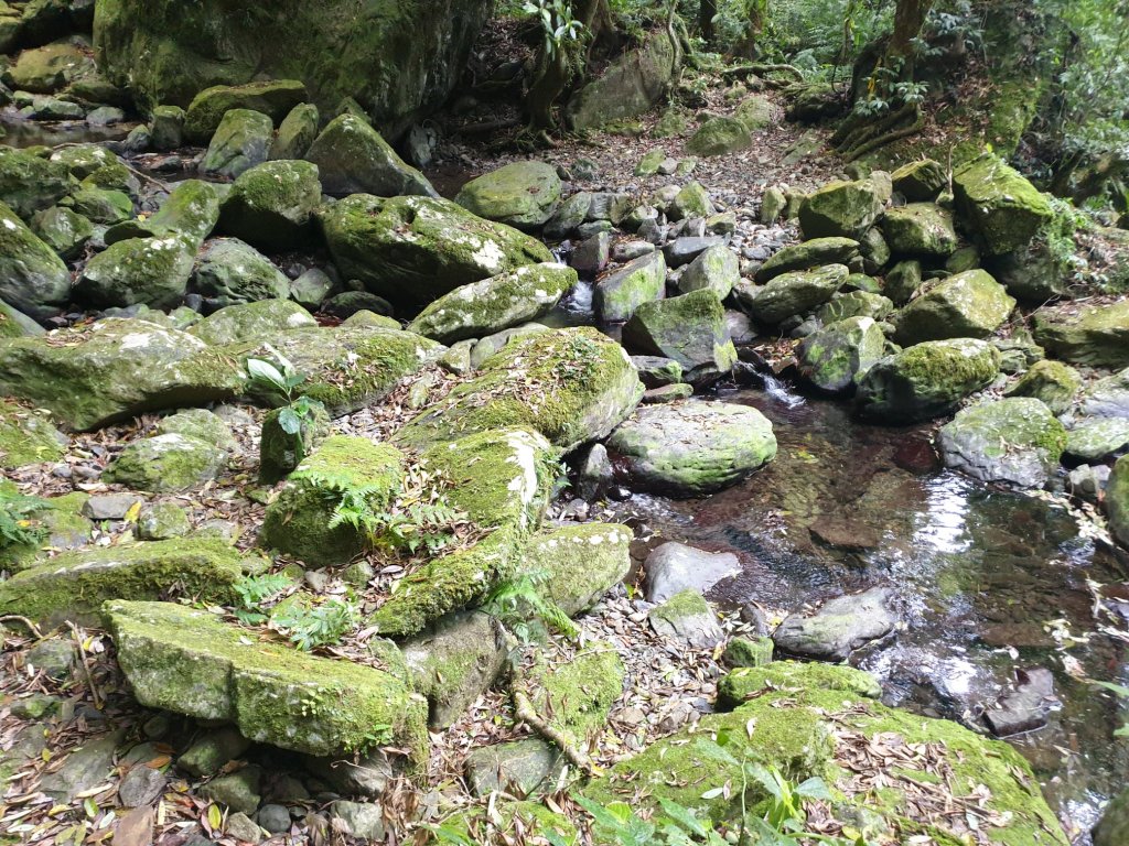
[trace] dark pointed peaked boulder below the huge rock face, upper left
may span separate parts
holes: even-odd
[[[431,183],[408,165],[373,126],[355,115],[335,117],[305,157],[317,166],[327,194],[418,194],[438,197]]]

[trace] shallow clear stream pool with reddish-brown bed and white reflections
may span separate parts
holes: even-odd
[[[1087,831],[1129,776],[1129,742],[1112,737],[1129,715],[1068,673],[1064,658],[1092,678],[1129,676],[1126,644],[1094,633],[1087,585],[1124,580],[1112,554],[1058,504],[938,468],[928,429],[860,425],[844,404],[797,402],[782,386],[719,398],[772,420],[776,461],[704,500],[636,496],[619,517],[736,553],[744,572],[711,593],[723,606],[795,609],[893,587],[904,631],[854,659],[882,680],[889,704],[975,724],[1016,667],[1051,668],[1061,708],[1045,729],[1009,742],[1068,829]],[[1054,632],[1094,634],[1066,650]]]

